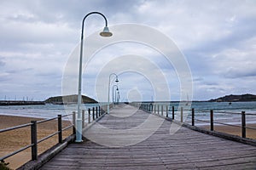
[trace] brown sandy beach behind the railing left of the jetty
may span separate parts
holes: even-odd
[[[28,122],[39,121],[42,119],[32,118],[32,117],[22,117],[22,116],[0,116],[0,128],[14,127],[20,124],[26,124]],[[71,122],[63,121],[62,127],[67,127]],[[57,131],[57,122],[56,120],[50,122],[44,122],[38,124],[38,139],[43,139],[51,133]],[[72,134],[72,128],[63,132],[63,139],[67,138]],[[13,131],[0,133],[0,156],[5,156],[15,150],[19,150],[21,147],[30,144],[30,127],[23,127]],[[57,144],[58,136],[45,140],[44,142],[38,144],[38,154],[43,153],[45,150],[48,150],[51,146]],[[9,167],[17,168],[23,165],[26,161],[31,160],[31,149],[24,150],[15,156],[11,156],[9,159],[6,159],[6,162],[9,162]]]

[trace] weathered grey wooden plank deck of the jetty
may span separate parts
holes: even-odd
[[[131,106],[121,105],[113,113],[130,110]],[[147,117],[148,113],[143,111],[123,118],[110,114],[99,123],[112,129],[126,129],[138,126]],[[41,169],[256,169],[256,147],[252,145],[186,127],[171,135],[170,127],[171,122],[165,121],[148,139],[131,146],[116,148],[91,141],[70,144]]]

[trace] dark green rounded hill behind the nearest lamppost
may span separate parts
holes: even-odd
[[[92,103],[98,103],[95,99],[91,99],[88,96],[82,96],[82,103],[84,104],[92,104]],[[63,105],[63,104],[76,104],[78,103],[78,95],[66,95],[66,96],[55,96],[50,97],[49,99],[46,99],[44,101],[46,104],[55,104],[55,105]]]

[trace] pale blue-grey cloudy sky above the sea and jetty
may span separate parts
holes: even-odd
[[[134,23],[152,27],[171,38],[189,64],[193,99],[256,94],[255,8],[253,0],[1,0],[0,99],[42,100],[61,95],[63,72],[79,44],[81,20],[91,11],[105,14],[110,27]],[[85,37],[101,29],[102,21],[99,16],[90,16],[85,24]],[[106,48],[106,54],[125,55],[128,52],[119,51],[128,49],[130,54],[137,54],[134,44],[124,43],[115,48]],[[150,50],[145,50],[145,54]],[[173,71],[166,65],[157,65]],[[99,75],[96,66],[104,68],[104,65],[89,65],[94,69],[84,73],[84,84]],[[78,72],[78,68],[74,70]],[[119,79],[124,80],[119,84],[121,99],[131,94],[133,98],[137,96],[136,88],[142,91],[143,99],[152,98],[152,92],[142,90],[144,82],[144,87],[152,89],[147,78],[119,73]],[[168,82],[173,82],[170,85],[173,100],[179,99],[176,79]],[[83,88],[83,94],[96,98],[95,84]],[[137,87],[138,84],[142,87]],[[73,86],[76,91],[77,84]]]

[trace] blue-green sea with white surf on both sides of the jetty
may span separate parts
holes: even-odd
[[[178,103],[171,102],[169,116],[172,116],[172,105],[177,110]],[[98,106],[97,104],[86,104],[82,106],[85,111],[88,108]],[[231,124],[241,124],[241,111],[245,111],[247,123],[256,123],[256,102],[192,102],[191,108],[195,108],[195,119],[204,121],[210,120],[210,110],[214,111],[214,121]],[[1,105],[0,115],[8,116],[28,116],[38,118],[51,118],[57,115],[67,115],[77,111],[77,105]],[[228,113],[227,113],[228,112]],[[87,112],[85,112],[87,114]],[[184,111],[184,122],[191,122],[191,111]],[[176,111],[176,118],[178,112]],[[85,116],[85,121],[88,116]],[[69,117],[66,117],[68,119]],[[197,125],[209,124],[198,122]]]

